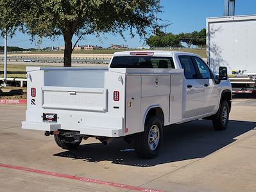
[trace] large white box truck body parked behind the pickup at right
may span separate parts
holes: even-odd
[[[256,91],[256,15],[207,19],[208,63],[228,68],[233,93]]]

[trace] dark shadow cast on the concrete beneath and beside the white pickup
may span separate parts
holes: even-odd
[[[89,162],[112,161],[115,164],[131,166],[155,166],[205,157],[229,145],[237,136],[255,127],[255,122],[235,120],[230,120],[226,131],[214,131],[209,120],[169,126],[164,129],[164,142],[160,154],[155,159],[140,159],[134,150],[126,150],[132,149],[133,145],[127,144],[122,139],[114,140],[108,146],[101,143],[80,145],[76,150],[67,150],[54,156],[83,159]]]

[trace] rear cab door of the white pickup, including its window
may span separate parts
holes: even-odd
[[[185,106],[184,118],[203,115],[205,112],[205,87],[198,78],[198,73],[192,61],[191,56],[178,56],[180,64],[184,69],[185,84]]]

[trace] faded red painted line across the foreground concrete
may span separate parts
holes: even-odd
[[[155,190],[155,189],[138,188],[138,187],[135,187],[135,186],[129,186],[129,185],[126,185],[126,184],[119,184],[119,183],[115,183],[115,182],[108,182],[108,181],[97,180],[97,179],[89,179],[87,177],[66,175],[66,174],[55,173],[55,172],[47,172],[47,171],[43,171],[43,170],[35,170],[35,169],[26,168],[26,167],[23,167],[23,166],[15,166],[15,165],[11,165],[11,164],[1,164],[0,163],[0,167],[10,168],[10,169],[14,169],[14,170],[22,170],[24,172],[38,173],[38,174],[42,174],[42,175],[51,175],[53,177],[62,177],[62,178],[65,178],[65,179],[80,180],[82,182],[90,182],[90,183],[95,183],[95,184],[101,184],[101,185],[105,185],[105,186],[111,186],[111,187],[114,187],[114,188],[123,188],[123,189],[130,189],[130,190],[134,190],[134,191],[143,191],[143,192],[164,192],[164,191],[158,191],[158,190]]]

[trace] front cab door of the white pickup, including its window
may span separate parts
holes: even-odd
[[[216,104],[218,104],[219,100],[219,91],[214,81],[214,75],[201,58],[192,56],[192,60],[198,71],[198,78],[200,78],[201,83],[205,86],[205,113],[212,113],[215,111]]]

